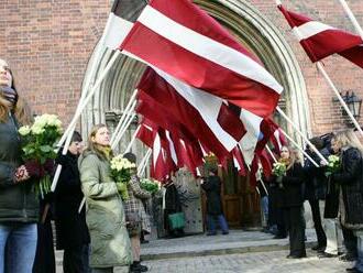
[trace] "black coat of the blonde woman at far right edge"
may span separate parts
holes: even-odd
[[[341,154],[341,172],[332,174],[332,181],[341,188],[343,207],[341,222],[351,229],[363,229],[363,161],[361,152],[348,148]]]

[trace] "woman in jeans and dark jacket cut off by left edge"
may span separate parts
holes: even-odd
[[[0,272],[32,272],[38,201],[21,159],[20,124],[31,113],[19,99],[8,63],[0,58]],[[6,266],[6,267],[4,267]]]

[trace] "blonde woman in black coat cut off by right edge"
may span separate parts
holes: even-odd
[[[331,175],[339,187],[339,214],[343,228],[358,238],[358,259],[350,272],[363,272],[363,146],[352,130],[336,133],[331,148],[340,155],[340,170]]]

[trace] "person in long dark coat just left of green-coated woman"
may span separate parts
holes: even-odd
[[[58,250],[64,250],[63,271],[65,273],[88,273],[89,233],[86,225],[85,208],[78,212],[84,198],[77,166],[81,152],[81,136],[74,132],[66,155],[56,159],[62,164],[62,173],[55,190],[55,225]]]

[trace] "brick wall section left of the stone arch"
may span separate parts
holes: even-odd
[[[75,112],[88,58],[109,12],[109,0],[0,1],[0,57],[35,113]]]

